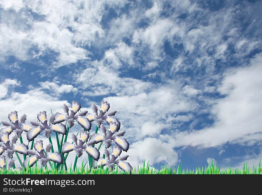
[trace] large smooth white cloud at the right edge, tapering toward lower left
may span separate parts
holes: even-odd
[[[226,94],[218,99],[211,112],[216,116],[212,127],[192,133],[180,132],[176,144],[215,147],[227,142],[251,144],[261,140],[262,116],[262,56],[257,55],[251,65],[231,69],[224,75],[218,91]],[[254,136],[257,135],[257,136]],[[259,135],[259,136],[258,136]]]

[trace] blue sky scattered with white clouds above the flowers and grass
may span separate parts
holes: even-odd
[[[132,165],[257,165],[261,9],[261,1],[0,1],[0,119],[107,100]]]

